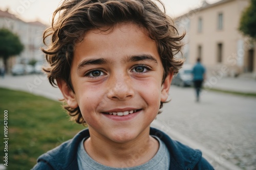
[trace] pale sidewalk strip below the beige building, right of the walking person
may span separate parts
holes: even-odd
[[[256,94],[256,80],[246,77],[223,77],[212,76],[207,78],[204,83],[207,89],[217,89],[224,91],[234,91],[242,93],[255,93]]]

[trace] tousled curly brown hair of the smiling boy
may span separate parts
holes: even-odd
[[[158,7],[160,4],[163,9]],[[181,40],[185,36],[178,34],[174,21],[166,15],[164,5],[159,0],[64,0],[53,13],[52,25],[44,33],[42,48],[49,63],[44,71],[48,74],[52,86],[56,80],[63,80],[74,92],[71,83],[71,63],[75,44],[82,41],[86,32],[92,29],[113,29],[118,23],[130,22],[146,30],[158,47],[164,74],[176,74],[184,60],[174,56],[181,52]],[[109,30],[108,29],[108,30]],[[51,38],[51,39],[49,39]],[[49,42],[49,43],[48,43]],[[163,103],[161,102],[160,108]],[[86,124],[79,107],[64,105],[71,119],[78,124]]]

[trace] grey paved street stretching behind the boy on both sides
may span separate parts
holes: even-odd
[[[7,76],[0,79],[0,86],[61,99],[59,89],[51,87],[44,75]],[[193,88],[172,85],[169,99],[156,119],[161,130],[205,148],[216,169],[224,169],[220,163],[225,160],[242,169],[256,169],[256,98],[203,91],[197,103]]]

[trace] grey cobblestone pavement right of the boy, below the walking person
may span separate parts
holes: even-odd
[[[193,88],[172,86],[158,115],[166,128],[214,151],[243,169],[256,169],[256,98],[207,91],[195,102]]]

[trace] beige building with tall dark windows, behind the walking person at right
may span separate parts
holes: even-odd
[[[249,0],[204,1],[200,8],[177,17],[179,31],[186,31],[186,62],[194,64],[201,58],[208,75],[255,73],[255,42],[238,31],[240,16],[248,5]]]

